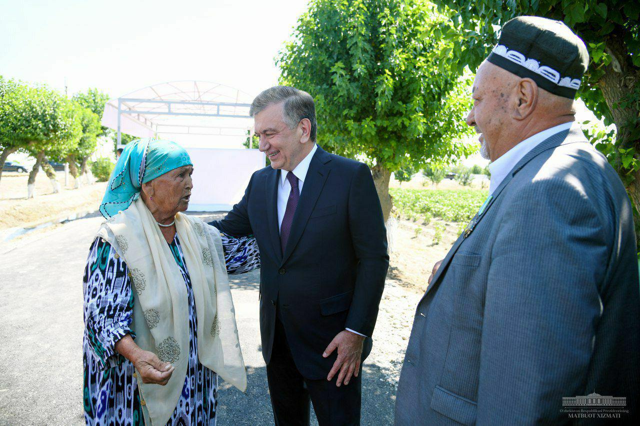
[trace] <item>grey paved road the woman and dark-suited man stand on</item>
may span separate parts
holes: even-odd
[[[102,220],[79,219],[0,243],[0,425],[84,424],[82,276]],[[257,271],[232,277],[248,390],[221,383],[219,425],[273,424],[259,347],[258,280]],[[388,373],[374,363],[364,371],[362,424],[392,424]]]

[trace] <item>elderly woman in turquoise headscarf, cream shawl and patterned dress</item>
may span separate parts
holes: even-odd
[[[218,375],[246,373],[227,274],[259,267],[189,204],[193,165],[170,141],[129,143],[84,272],[84,417],[99,425],[210,425]]]

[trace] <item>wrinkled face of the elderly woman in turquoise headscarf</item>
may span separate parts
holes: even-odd
[[[192,174],[193,166],[182,166],[145,184],[150,184],[150,191],[145,193],[151,198],[151,204],[156,207],[160,216],[175,216],[177,212],[184,212],[189,207],[193,189]],[[143,186],[143,191],[145,189],[147,187]]]

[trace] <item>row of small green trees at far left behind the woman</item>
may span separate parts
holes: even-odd
[[[35,158],[29,173],[29,197],[33,196],[40,167],[58,192],[49,161],[68,162],[79,187],[82,175],[90,173],[87,161],[95,152],[97,138],[108,131],[100,126],[108,99],[95,89],[68,99],[47,86],[31,86],[0,76],[0,165],[17,151]]]

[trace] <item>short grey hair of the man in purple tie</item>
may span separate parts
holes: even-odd
[[[311,122],[309,138],[316,141],[317,122],[314,99],[306,91],[289,86],[273,86],[262,91],[251,103],[249,115],[255,116],[271,104],[282,102],[282,120],[293,129],[303,118]]]

